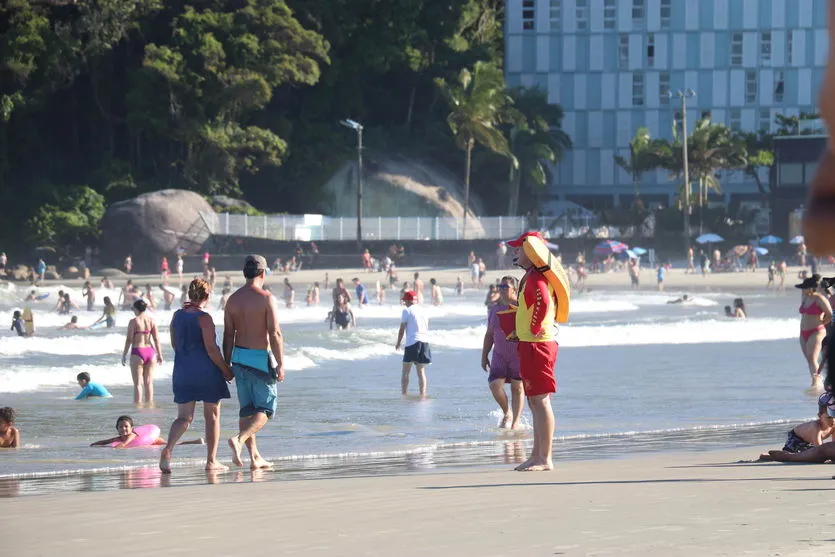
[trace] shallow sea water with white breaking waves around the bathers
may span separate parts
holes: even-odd
[[[9,321],[25,292],[0,290],[0,310]],[[72,294],[80,300],[80,293]],[[782,446],[790,424],[816,411],[815,397],[804,392],[808,375],[793,294],[746,296],[752,317],[744,322],[720,316],[735,296],[730,292],[699,296],[688,305],[668,305],[673,293],[575,296],[571,324],[560,331],[560,392],[553,403],[557,459]],[[99,299],[104,295],[99,292]],[[120,313],[115,330],[59,330],[68,318],[49,313],[54,296],[34,306],[37,337],[0,335],[0,406],[17,410],[24,445],[0,451],[0,495],[160,485],[158,473],[146,469],[156,465],[158,449],[88,445],[115,435],[121,414],[137,424],[155,423],[165,435],[175,417],[173,353],[166,349],[156,373],[156,407],[137,408],[130,372],[120,365],[131,314]],[[278,467],[256,479],[520,461],[530,432],[497,429],[499,412],[479,367],[483,293],[458,298],[448,292],[446,300],[442,308],[428,308],[435,363],[425,401],[399,394],[402,353],[393,348],[399,307],[358,310],[360,327],[347,332],[327,330],[325,307],[282,310],[287,380],[280,386],[278,418],[258,436],[262,452]],[[88,324],[100,313],[77,315]],[[213,315],[222,324],[222,314]],[[164,311],[156,316],[164,345],[170,317]],[[73,400],[81,371],[114,397]],[[233,389],[222,411],[223,437],[236,425]],[[202,435],[202,428],[198,411],[186,437]],[[204,451],[178,447],[174,477],[163,483],[206,482]],[[220,456],[229,459],[225,445]],[[216,481],[251,479],[247,471]]]

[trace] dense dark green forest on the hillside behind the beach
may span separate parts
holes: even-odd
[[[182,187],[327,210],[320,186],[354,148],[343,118],[363,122],[369,149],[430,156],[463,179],[436,80],[502,66],[503,5],[6,0],[0,195],[14,211],[0,237],[69,241],[46,215],[86,187],[106,203]]]

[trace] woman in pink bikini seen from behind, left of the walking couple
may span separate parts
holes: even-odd
[[[128,324],[125,338],[125,349],[122,352],[122,365],[127,365],[128,349],[130,349],[130,373],[133,377],[133,401],[154,401],[154,368],[162,363],[162,350],[159,345],[157,324],[145,313],[148,309],[144,300],[133,303],[135,317]]]

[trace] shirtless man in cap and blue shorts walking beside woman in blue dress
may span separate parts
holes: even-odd
[[[284,381],[278,303],[263,288],[266,270],[267,260],[262,256],[247,256],[246,284],[229,296],[223,319],[223,357],[235,374],[241,405],[240,432],[229,438],[232,462],[243,466],[241,449],[246,445],[253,470],[272,466],[258,452],[255,434],[275,414],[276,386]]]

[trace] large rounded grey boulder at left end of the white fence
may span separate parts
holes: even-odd
[[[201,213],[213,214],[202,196],[186,190],[145,193],[114,203],[104,213],[101,250],[104,261],[119,267],[128,254],[138,271],[156,271],[159,258],[178,248],[197,253],[209,239]]]

